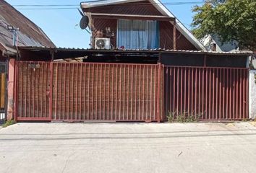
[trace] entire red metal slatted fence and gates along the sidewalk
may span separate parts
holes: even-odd
[[[247,68],[17,61],[16,69],[17,120],[248,118]]]

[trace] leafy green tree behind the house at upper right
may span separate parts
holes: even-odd
[[[240,48],[256,50],[256,0],[205,0],[192,11],[196,37],[218,35],[222,43],[236,40]]]

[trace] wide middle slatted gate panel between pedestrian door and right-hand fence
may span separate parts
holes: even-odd
[[[160,71],[157,70],[158,65],[65,63],[65,66],[67,69],[61,63],[54,63],[56,120],[158,120],[155,116],[156,106],[158,112],[163,110],[163,103],[156,100],[158,87],[162,86],[158,84],[162,82],[162,66]],[[64,71],[67,71],[67,75]],[[159,91],[162,93],[161,89]],[[161,93],[159,96],[162,96]],[[65,95],[67,103],[60,100]],[[59,116],[64,105],[69,110],[67,116]]]

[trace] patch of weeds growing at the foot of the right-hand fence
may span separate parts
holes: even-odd
[[[167,119],[169,123],[193,123],[200,120],[200,117],[202,117],[202,114],[198,115],[192,115],[188,112],[168,112]]]

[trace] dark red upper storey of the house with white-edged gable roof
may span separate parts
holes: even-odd
[[[90,21],[92,48],[101,48],[97,41],[105,38],[107,49],[205,50],[161,1],[87,1],[81,8]]]

